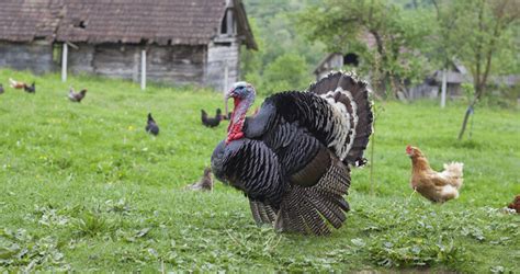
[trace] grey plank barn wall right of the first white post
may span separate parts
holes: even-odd
[[[69,50],[69,71],[95,73],[138,82],[139,45],[80,44]],[[147,80],[168,84],[203,84],[204,46],[148,46]]]

